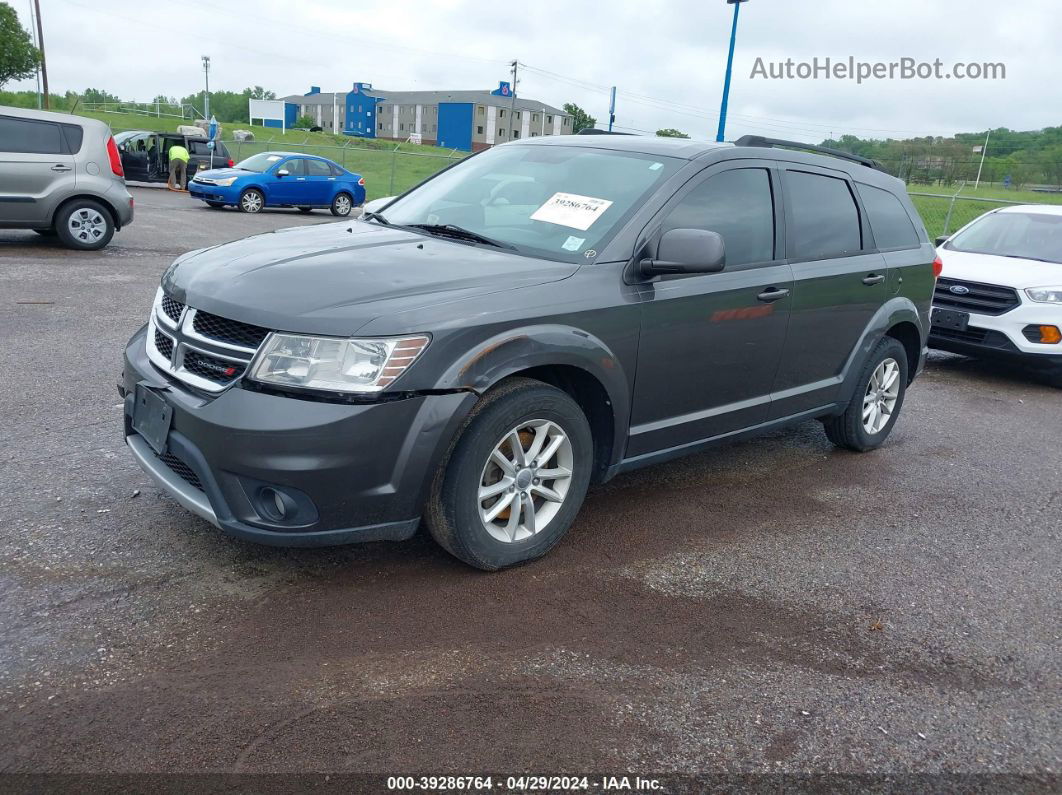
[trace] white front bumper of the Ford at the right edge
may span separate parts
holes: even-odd
[[[1000,315],[970,313],[965,331],[931,326],[929,347],[964,356],[1021,362],[1048,370],[1062,370],[1062,344],[1034,343],[1023,333],[1028,326],[1041,325],[1062,327],[1062,308],[1024,301]]]

